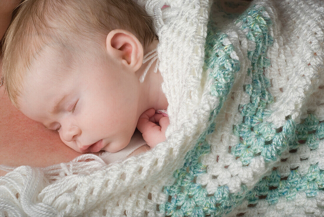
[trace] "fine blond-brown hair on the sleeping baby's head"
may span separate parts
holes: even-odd
[[[131,31],[144,47],[155,38],[151,18],[132,0],[23,1],[3,44],[3,76],[9,99],[18,107],[25,73],[45,46],[63,51],[63,58],[67,58],[85,50],[84,44],[106,42],[107,34],[119,28]]]

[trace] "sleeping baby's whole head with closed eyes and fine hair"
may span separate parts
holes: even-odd
[[[12,103],[79,152],[124,148],[155,34],[131,0],[25,0],[4,42]]]

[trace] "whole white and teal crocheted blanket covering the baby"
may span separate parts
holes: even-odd
[[[0,178],[0,215],[324,216],[323,2],[257,0],[240,16],[208,0],[141,3],[159,37],[166,141],[109,165],[18,167]]]

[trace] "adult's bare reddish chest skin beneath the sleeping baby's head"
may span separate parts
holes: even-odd
[[[12,11],[19,2],[0,1],[0,39],[8,28]],[[1,60],[0,56],[0,66]],[[130,156],[147,150],[149,150],[147,145],[142,146]],[[79,155],[81,153],[66,146],[56,132],[46,129],[40,123],[23,115],[9,101],[5,87],[0,86],[0,164],[46,167],[69,162]],[[5,171],[0,170],[0,176],[5,174]]]

